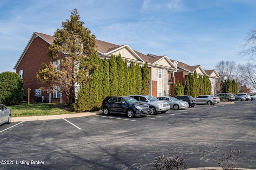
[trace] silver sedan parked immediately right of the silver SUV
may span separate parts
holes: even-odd
[[[170,105],[170,108],[173,108],[175,110],[185,109],[189,107],[188,102],[185,102],[183,100],[178,100],[174,97],[161,96],[161,97],[158,97],[157,99],[160,101],[167,102]]]

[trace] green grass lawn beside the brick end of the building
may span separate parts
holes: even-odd
[[[62,115],[74,113],[71,106],[66,106],[66,104],[42,103],[28,105],[28,103],[23,103],[8,107],[12,109],[12,117]]]

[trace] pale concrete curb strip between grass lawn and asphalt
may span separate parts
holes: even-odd
[[[85,116],[100,115],[100,114],[102,114],[102,111],[82,112],[82,113],[74,113],[74,114],[70,113],[70,114],[63,114],[63,115],[12,117],[12,122],[63,119],[63,118],[72,118],[72,117],[85,117]]]

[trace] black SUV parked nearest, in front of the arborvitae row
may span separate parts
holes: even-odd
[[[149,106],[147,104],[142,104],[128,96],[108,96],[103,100],[101,109],[104,115],[120,113],[126,114],[129,118],[149,114]]]

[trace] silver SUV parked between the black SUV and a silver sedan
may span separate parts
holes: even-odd
[[[170,109],[170,105],[167,102],[159,101],[157,98],[148,95],[129,95],[140,103],[147,104],[149,106],[149,113],[151,115],[157,112],[165,113]]]

